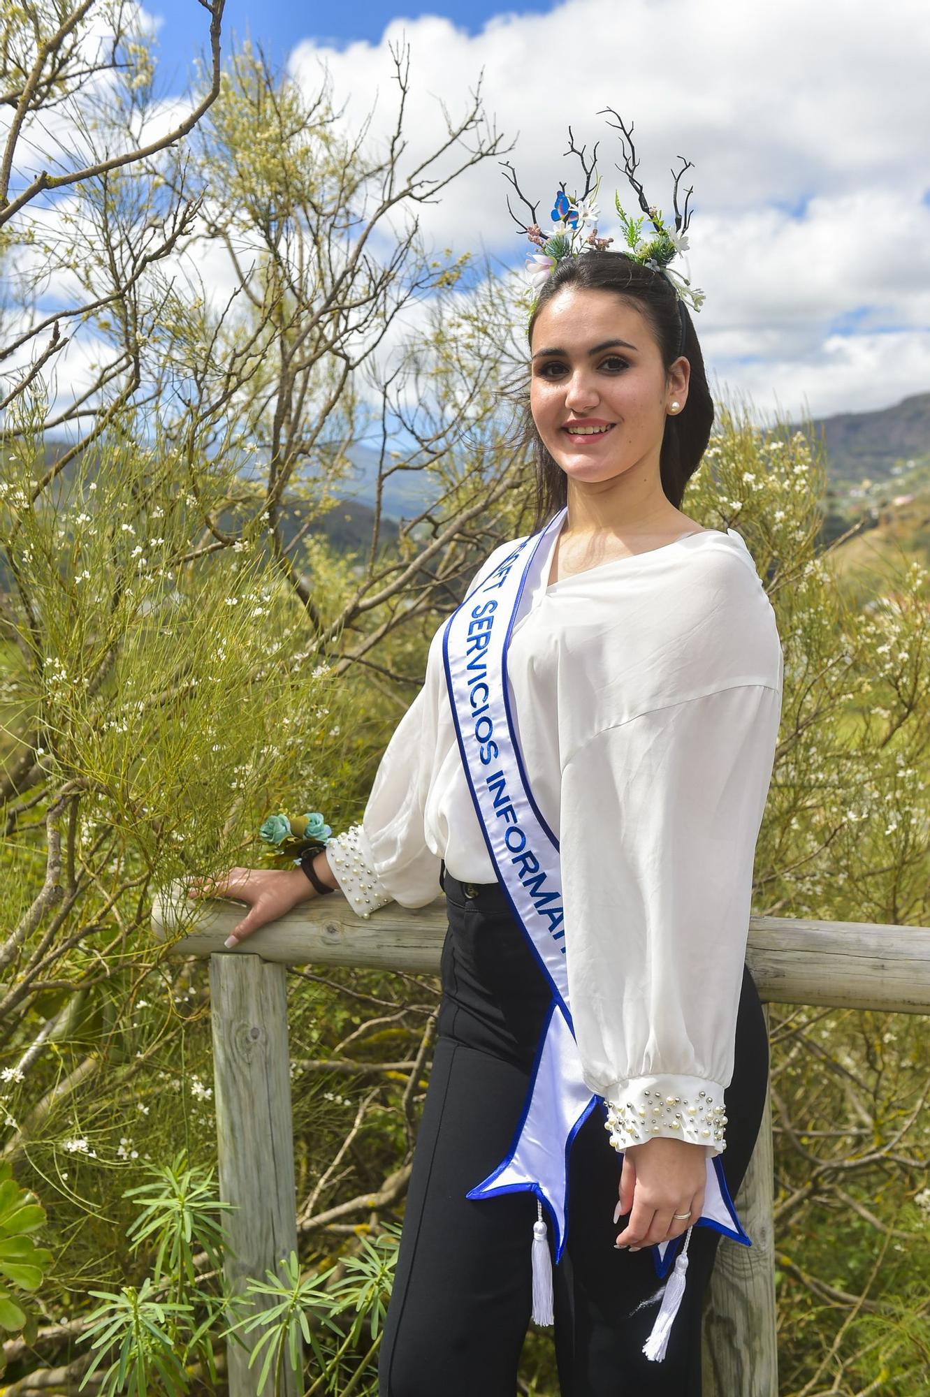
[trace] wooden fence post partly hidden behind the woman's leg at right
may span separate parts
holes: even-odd
[[[768,1004],[762,1004],[768,1030]],[[775,1338],[775,1193],[772,1097],[753,1158],[733,1200],[753,1245],[722,1239],[711,1273],[704,1317],[707,1397],[778,1397]]]

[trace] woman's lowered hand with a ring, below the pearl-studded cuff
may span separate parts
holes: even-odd
[[[620,1203],[613,1221],[630,1214],[617,1246],[631,1252],[670,1242],[697,1222],[704,1211],[707,1148],[688,1140],[654,1136],[623,1151]],[[674,1218],[673,1213],[688,1213]]]

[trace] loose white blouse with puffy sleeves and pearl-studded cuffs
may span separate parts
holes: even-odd
[[[775,613],[732,528],[547,585],[554,545],[553,534],[536,550],[507,666],[526,775],[560,842],[585,1081],[610,1108],[617,1150],[663,1134],[721,1154],[781,721]],[[444,624],[362,824],[327,844],[363,915],[431,902],[440,859],[461,882],[496,882],[455,740]]]

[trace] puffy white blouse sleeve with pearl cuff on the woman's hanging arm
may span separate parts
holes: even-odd
[[[726,1147],[755,841],[781,689],[739,683],[595,733],[563,768],[568,995],[616,1150]]]

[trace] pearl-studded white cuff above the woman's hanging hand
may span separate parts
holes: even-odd
[[[610,1144],[623,1151],[652,1136],[687,1140],[708,1147],[709,1155],[726,1148],[723,1087],[701,1077],[640,1077],[605,1095]]]

